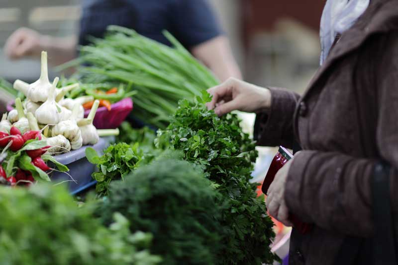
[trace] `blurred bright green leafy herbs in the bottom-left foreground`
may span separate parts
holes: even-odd
[[[159,264],[148,251],[150,234],[131,234],[121,214],[106,228],[93,209],[78,208],[60,186],[0,187],[0,263]]]

